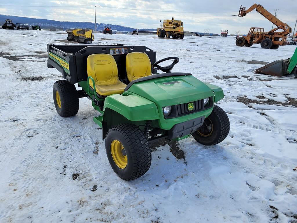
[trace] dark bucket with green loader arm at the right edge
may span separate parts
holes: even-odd
[[[292,73],[294,70],[295,70],[294,72],[296,73],[296,66],[297,66],[297,48],[291,58],[276,60],[274,62],[266,64],[263,67],[258,68],[255,72],[281,77]]]

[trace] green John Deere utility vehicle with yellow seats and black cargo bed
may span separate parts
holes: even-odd
[[[73,116],[79,98],[91,100],[99,112],[93,120],[102,128],[109,163],[124,180],[149,170],[152,142],[192,135],[201,144],[215,145],[229,133],[228,116],[214,104],[224,97],[222,89],[190,73],[171,73],[177,57],[156,62],[153,50],[122,44],[47,48],[48,68],[64,78],[53,85],[56,111]],[[172,64],[160,65],[167,60]]]

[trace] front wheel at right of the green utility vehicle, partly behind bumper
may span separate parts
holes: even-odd
[[[226,112],[219,106],[214,105],[211,114],[192,136],[203,145],[216,145],[228,136],[229,131],[230,121]]]

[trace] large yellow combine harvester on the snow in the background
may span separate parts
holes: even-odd
[[[171,19],[166,19],[163,21],[163,25],[157,28],[157,35],[161,38],[166,36],[166,38],[169,39],[170,36],[172,36],[173,39],[184,39],[183,22],[180,20],[174,20],[173,17]]]

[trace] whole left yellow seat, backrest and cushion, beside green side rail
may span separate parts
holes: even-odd
[[[119,80],[118,67],[109,54],[92,54],[87,59],[87,73],[95,81],[96,92],[101,96],[122,94],[127,86]],[[90,80],[90,86],[94,89]]]

